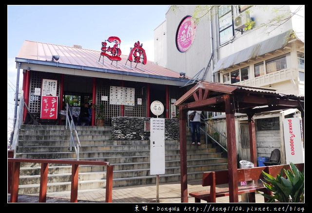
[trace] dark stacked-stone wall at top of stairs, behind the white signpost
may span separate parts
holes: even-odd
[[[178,140],[179,120],[165,118],[165,140]],[[113,140],[149,140],[150,118],[112,117]]]

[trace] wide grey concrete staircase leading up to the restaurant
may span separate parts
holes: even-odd
[[[81,143],[80,160],[108,161],[114,165],[113,187],[156,183],[150,175],[150,141],[110,140],[111,127],[77,126]],[[69,151],[69,130],[56,125],[21,125],[17,158],[76,160]],[[189,135],[189,134],[188,134]],[[190,136],[188,136],[190,137]],[[187,145],[188,180],[201,179],[203,171],[227,169],[227,158],[215,148],[204,145]],[[74,150],[74,149],[73,149]],[[165,141],[166,172],[160,183],[180,180],[179,141]],[[78,190],[105,188],[106,168],[79,166]],[[22,163],[19,194],[38,194],[40,165]],[[48,192],[70,191],[71,166],[49,165]]]

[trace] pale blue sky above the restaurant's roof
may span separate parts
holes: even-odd
[[[100,51],[108,37],[121,39],[123,55],[140,41],[154,61],[154,30],[170,5],[7,5],[8,131],[13,126],[17,69],[25,40]],[[21,74],[20,74],[21,75]],[[21,83],[20,83],[21,87]]]

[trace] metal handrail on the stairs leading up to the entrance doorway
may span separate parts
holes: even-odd
[[[73,119],[73,115],[72,115],[72,112],[70,110],[70,106],[69,106],[68,102],[66,103],[66,129],[68,128],[67,125],[69,126],[69,129],[70,129],[70,149],[69,150],[72,151],[73,146],[74,146],[77,160],[79,160],[80,140],[79,140],[79,136],[78,136],[77,129],[75,126],[75,122]],[[75,134],[77,137],[77,146],[75,144],[73,131],[75,131]]]

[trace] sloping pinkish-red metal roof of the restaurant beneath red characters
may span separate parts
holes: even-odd
[[[164,67],[154,64],[153,61],[147,61],[145,65],[132,63],[130,69],[130,61],[128,56],[121,55],[121,61],[118,61],[118,68],[116,61],[112,61],[107,57],[100,58],[100,51],[87,50],[75,47],[61,46],[57,44],[41,43],[36,41],[26,40],[22,45],[17,58],[32,59],[39,61],[51,61],[53,55],[59,55],[57,62],[78,65],[84,67],[92,67],[99,69],[117,70],[122,72],[140,73],[145,75],[162,76],[162,77],[175,77],[180,78],[179,73]],[[100,58],[100,60],[99,60]],[[104,58],[104,64],[103,62]],[[127,67],[125,67],[127,66]]]

